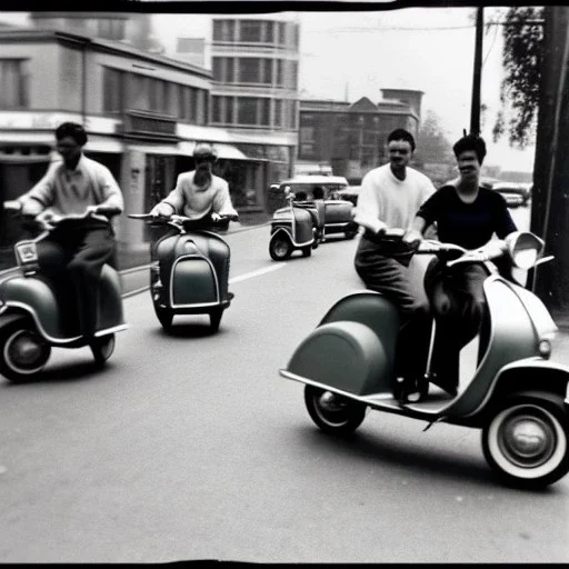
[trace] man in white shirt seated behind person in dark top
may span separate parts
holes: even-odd
[[[366,231],[361,236],[355,267],[366,287],[382,293],[399,308],[401,329],[397,342],[397,375],[405,378],[405,392],[416,390],[423,375],[430,330],[429,308],[417,298],[409,281],[412,242],[421,239],[412,222],[421,204],[436,191],[421,172],[409,168],[415,139],[405,129],[388,137],[389,163],[368,172],[361,182],[355,221]],[[386,229],[406,231],[403,241],[381,239]]]

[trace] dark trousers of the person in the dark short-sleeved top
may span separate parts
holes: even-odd
[[[460,350],[480,331],[487,277],[488,269],[479,263],[449,269],[435,260],[427,269],[426,290],[437,321],[432,371],[443,388],[458,387]]]

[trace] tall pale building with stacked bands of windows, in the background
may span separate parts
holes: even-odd
[[[231,132],[246,156],[266,160],[269,182],[292,173],[297,153],[299,31],[281,14],[212,19],[210,123]],[[264,206],[264,191],[253,199]]]

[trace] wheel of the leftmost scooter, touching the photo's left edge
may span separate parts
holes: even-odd
[[[28,319],[0,330],[0,373],[12,382],[30,380],[50,355],[51,346]]]

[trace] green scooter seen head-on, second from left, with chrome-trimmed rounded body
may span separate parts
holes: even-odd
[[[209,229],[227,230],[229,222],[237,218],[221,216],[217,221],[208,218],[207,224],[203,219],[177,214],[162,218],[132,213],[129,218],[143,220],[154,228],[176,230],[158,241],[158,260],[150,267],[150,295],[162,328],[170,331],[176,315],[209,315],[210,330],[216,332],[232,296],[227,292],[229,264],[228,273],[220,276],[210,259],[211,252],[229,259],[229,246]]]

